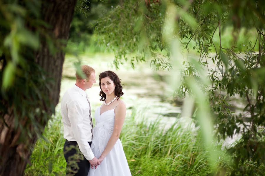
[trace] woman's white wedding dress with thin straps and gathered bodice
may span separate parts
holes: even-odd
[[[114,109],[117,106],[102,114],[100,114],[100,107],[95,111],[96,126],[91,145],[96,158],[100,157],[113,133]],[[97,169],[90,168],[88,176],[131,176],[120,139],[117,140],[110,153],[104,158]]]

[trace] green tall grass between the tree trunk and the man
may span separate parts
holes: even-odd
[[[58,115],[49,121],[43,138],[37,141],[25,175],[65,175],[64,142],[61,116]]]

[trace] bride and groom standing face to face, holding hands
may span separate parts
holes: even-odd
[[[76,176],[130,176],[130,169],[120,142],[125,119],[125,103],[120,79],[112,71],[99,75],[100,97],[104,103],[95,111],[93,128],[89,97],[95,80],[95,69],[81,66],[86,78],[76,73],[76,83],[62,97],[64,124],[64,158],[66,175]],[[77,153],[82,153],[80,156]],[[91,169],[90,169],[91,167]]]

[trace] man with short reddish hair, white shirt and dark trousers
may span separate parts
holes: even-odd
[[[88,65],[81,66],[86,78],[77,73],[74,86],[68,89],[62,97],[62,121],[64,124],[64,158],[66,160],[66,175],[87,176],[91,167],[97,168],[99,160],[94,156],[90,146],[93,137],[93,124],[88,95],[95,80],[95,69]],[[78,157],[78,153],[81,158]]]

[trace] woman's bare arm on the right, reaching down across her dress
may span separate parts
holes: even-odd
[[[122,102],[115,108],[115,122],[114,122],[113,133],[101,156],[98,158],[100,162],[102,162],[102,160],[104,160],[104,158],[109,154],[110,150],[119,139],[125,115],[126,115],[126,107],[125,103]]]

